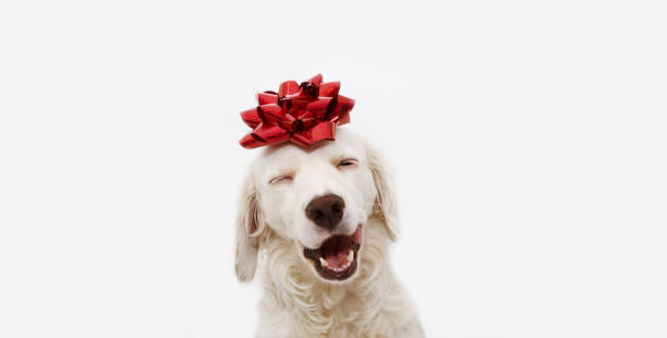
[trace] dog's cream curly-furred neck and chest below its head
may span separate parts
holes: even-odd
[[[288,240],[268,234],[258,337],[422,337],[411,302],[387,264],[387,234],[375,222],[368,222],[359,276],[341,285],[323,283],[291,258]]]

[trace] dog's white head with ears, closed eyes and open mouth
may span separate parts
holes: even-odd
[[[378,217],[397,236],[395,202],[379,154],[339,130],[335,142],[310,148],[266,148],[244,183],[237,221],[237,276],[251,280],[267,227],[293,241],[299,255],[326,281],[353,277],[363,254],[364,227]],[[374,222],[377,226],[377,222]]]

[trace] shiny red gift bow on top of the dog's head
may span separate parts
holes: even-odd
[[[354,100],[338,95],[340,82],[322,83],[322,74],[298,84],[286,81],[278,93],[257,94],[259,106],[241,112],[253,129],[241,138],[244,148],[292,142],[307,147],[322,140],[336,140],[336,128],[350,122]]]

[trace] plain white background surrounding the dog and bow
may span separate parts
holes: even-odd
[[[2,1],[0,336],[250,337],[238,112],[322,72],[428,337],[667,337],[660,2]]]

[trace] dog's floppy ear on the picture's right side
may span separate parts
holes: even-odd
[[[381,154],[373,146],[366,146],[368,168],[373,174],[373,182],[377,190],[375,200],[375,212],[384,220],[389,238],[396,240],[399,234],[398,210],[393,195],[392,182],[390,179],[389,167]]]

